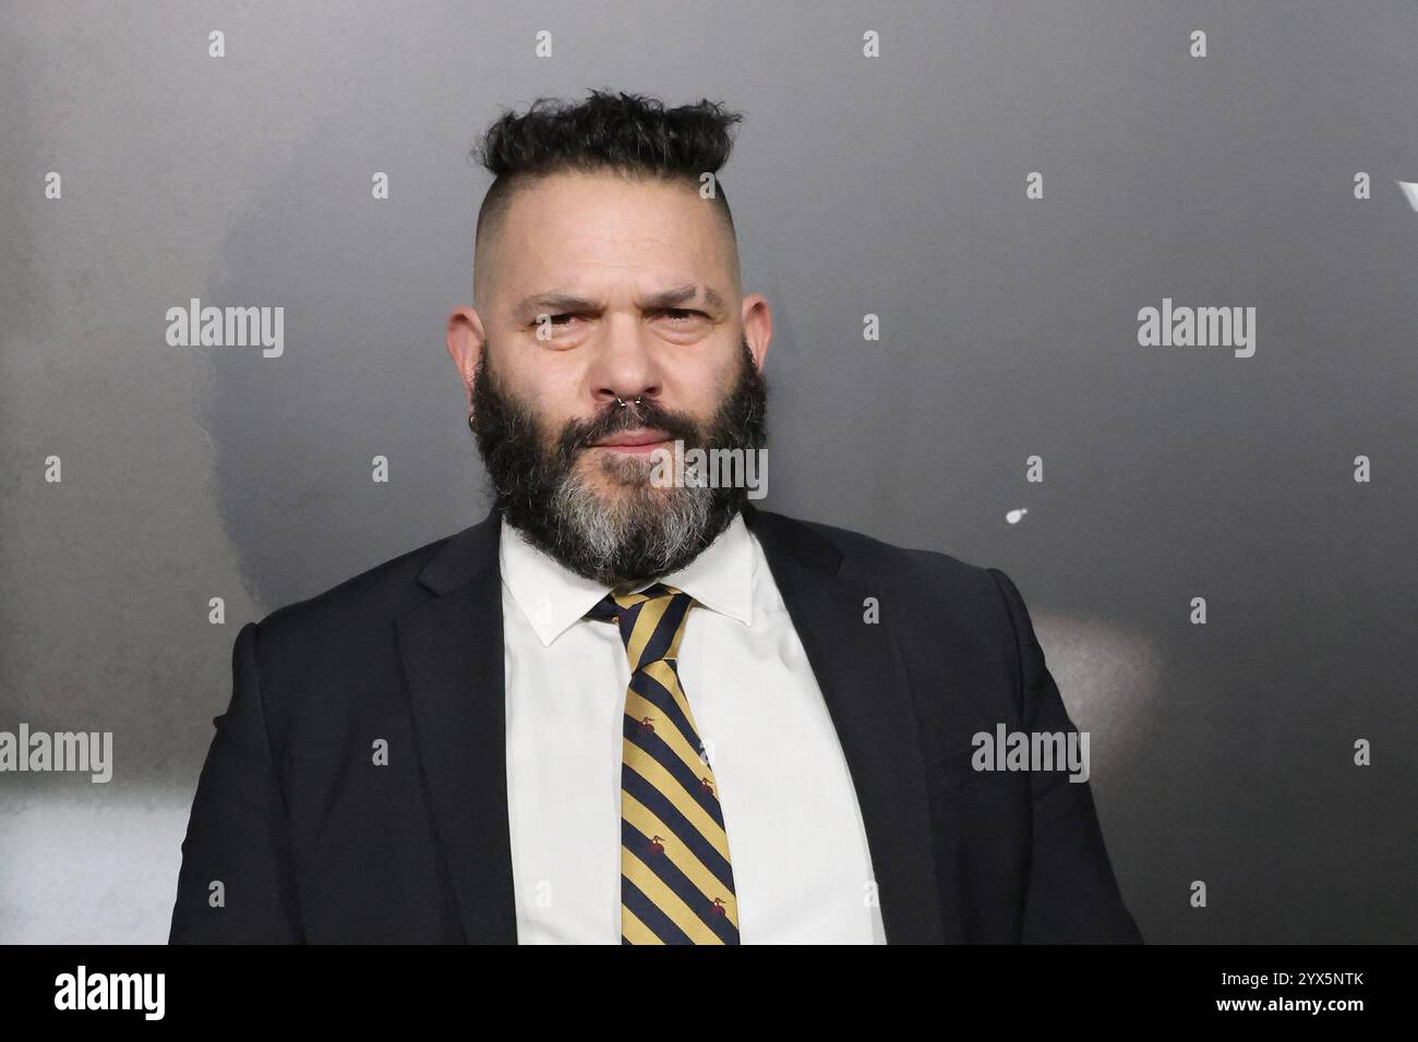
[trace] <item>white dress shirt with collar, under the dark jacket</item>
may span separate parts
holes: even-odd
[[[620,944],[625,645],[584,618],[605,587],[505,520],[499,556],[518,940]],[[885,943],[847,760],[743,516],[659,581],[698,601],[678,669],[713,766],[740,943]]]

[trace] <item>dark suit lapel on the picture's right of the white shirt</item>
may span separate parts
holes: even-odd
[[[930,805],[910,689],[891,625],[862,620],[868,597],[879,598],[885,611],[896,605],[869,577],[851,576],[841,551],[808,526],[752,503],[743,515],[767,557],[847,757],[886,940],[940,943]]]

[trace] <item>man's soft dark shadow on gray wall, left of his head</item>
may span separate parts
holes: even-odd
[[[201,299],[284,308],[279,357],[261,346],[207,349],[203,410],[214,496],[264,611],[486,510],[462,384],[442,343],[448,310],[471,293],[479,186],[465,163],[437,156],[428,164],[445,191],[374,200],[345,149],[342,122],[322,122],[235,223],[225,276]],[[373,479],[376,456],[389,461],[387,482]]]

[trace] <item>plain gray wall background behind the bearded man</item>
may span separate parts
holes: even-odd
[[[1144,936],[1418,940],[1415,84],[1408,0],[0,6],[0,730],[118,761],[0,774],[0,940],[166,940],[240,625],[482,517],[467,155],[591,86],[746,113],[766,506],[1020,584]],[[191,296],[284,357],[169,347]]]

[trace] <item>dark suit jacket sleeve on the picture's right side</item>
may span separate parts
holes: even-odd
[[[998,568],[988,570],[1014,624],[1022,686],[1022,729],[1076,732],[1044,663],[1044,649],[1018,588]],[[1130,943],[1143,937],[1133,921],[1103,845],[1093,794],[1066,773],[1035,771],[1029,885],[1024,943]]]

